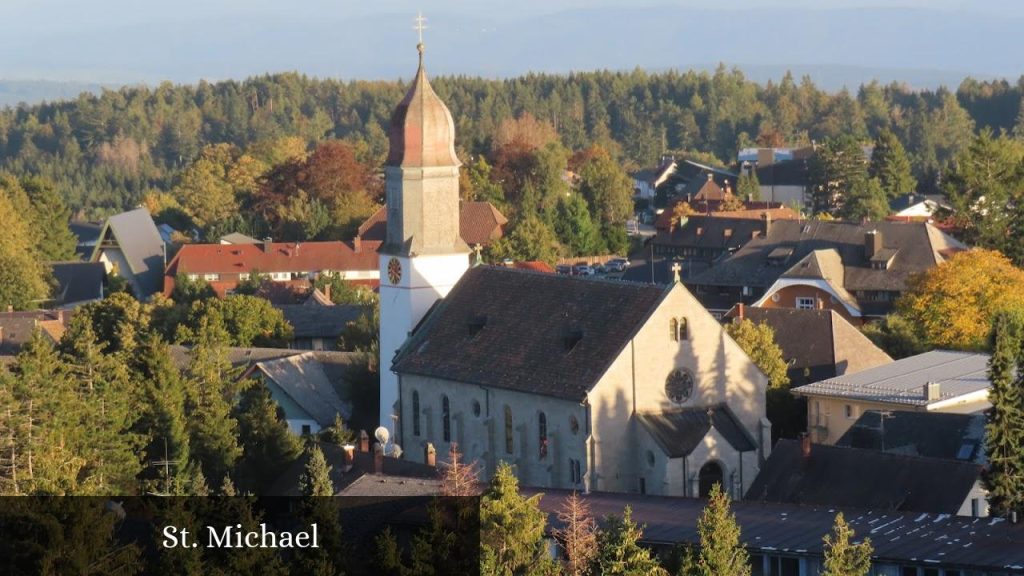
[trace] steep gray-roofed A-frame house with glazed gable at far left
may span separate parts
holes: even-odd
[[[108,274],[128,281],[139,299],[161,289],[166,247],[145,208],[111,216],[103,223],[89,261],[103,262]]]

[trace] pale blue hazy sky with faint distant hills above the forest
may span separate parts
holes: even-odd
[[[1024,73],[1019,0],[0,0],[0,79],[394,78],[409,74],[418,9],[433,70],[449,74],[717,61]]]

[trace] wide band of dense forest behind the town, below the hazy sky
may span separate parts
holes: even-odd
[[[664,153],[730,164],[757,143],[800,146],[850,136],[864,143],[888,129],[907,150],[922,192],[935,190],[946,165],[989,127],[1021,135],[1024,77],[966,79],[955,92],[899,84],[829,93],[808,77],[760,85],[738,70],[530,74],[506,80],[432,80],[456,119],[467,164],[494,160],[504,121],[529,114],[554,128],[569,153],[599,146],[626,170]],[[403,86],[341,82],[299,74],[179,86],[131,86],[77,99],[0,111],[0,171],[53,182],[72,212],[100,218],[178,187],[185,168],[211,145],[256,151],[298,138],[348,142],[359,162],[379,169],[387,125]],[[262,151],[262,156],[259,154]]]

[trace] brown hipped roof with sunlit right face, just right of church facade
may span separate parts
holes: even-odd
[[[727,315],[735,318],[738,307]],[[743,306],[743,318],[775,331],[793,385],[852,374],[893,361],[867,336],[830,310]],[[806,371],[806,376],[805,376]]]

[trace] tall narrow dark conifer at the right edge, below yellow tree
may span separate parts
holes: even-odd
[[[992,322],[982,481],[993,515],[1024,510],[1024,315],[1004,312]]]

